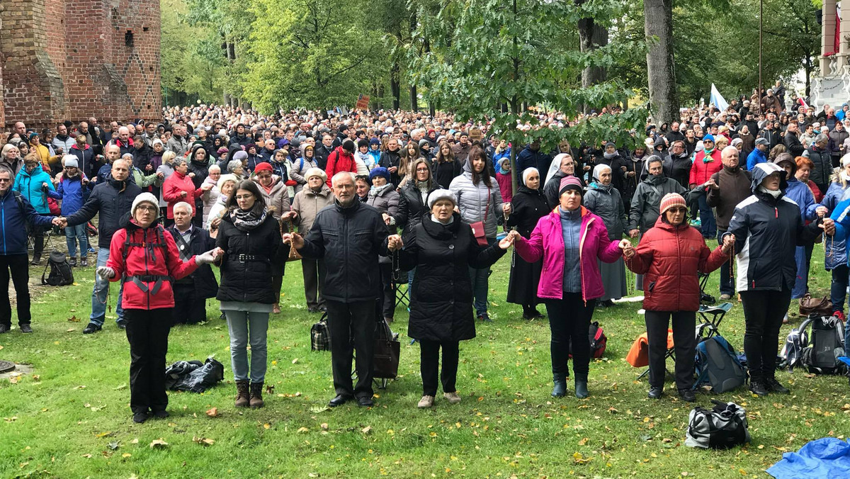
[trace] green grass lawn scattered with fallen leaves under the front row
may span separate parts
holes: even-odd
[[[130,418],[123,331],[109,320],[102,332],[81,334],[94,268],[77,269],[74,286],[37,289],[35,334],[15,328],[0,335],[0,358],[34,368],[14,384],[0,380],[0,476],[766,477],[763,470],[782,452],[847,434],[847,378],[798,370],[778,374],[791,396],[759,399],[743,388],[720,396],[747,409],[748,447],[725,452],[685,447],[691,406],[675,392],[660,401],[646,399],[646,381],[636,380],[641,370],[624,359],[644,331],[640,303],[594,314],[609,341],[604,359],[591,364],[590,398],[576,399],[570,383],[570,396],[553,399],[548,325],[524,322],[521,309],[505,303],[509,259],[501,259],[491,277],[494,322],[479,323],[478,337],[462,343],[460,404],[449,405],[438,394],[433,409],[416,408],[422,395],[419,349],[408,345],[407,313],[399,308],[392,325],[402,341],[399,379],[376,390],[374,408],[348,403],[327,409],[333,396],[330,353],[310,351],[309,328],[319,316],[307,313],[300,265],[291,263],[283,312],[272,317],[269,328],[266,384],[275,390],[266,395],[266,407],[234,408],[227,328],[218,319],[217,303],[209,301],[209,321],[173,328],[167,361],[214,355],[224,363],[225,381],[202,395],[169,392],[171,418],[144,425]],[[827,294],[830,280],[820,247],[812,270],[813,294]],[[37,273],[40,277],[40,268]],[[715,296],[718,275],[712,275]],[[72,316],[82,321],[69,322]],[[740,305],[721,330],[742,347]],[[709,406],[711,397],[699,394],[698,402]],[[218,408],[216,417],[207,415],[210,408]],[[201,445],[201,438],[214,443]],[[151,448],[157,439],[167,446]]]

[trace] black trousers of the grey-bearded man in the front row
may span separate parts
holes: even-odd
[[[373,357],[375,354],[375,300],[326,301],[327,326],[331,333],[333,388],[337,394],[372,396]],[[351,356],[357,351],[354,369],[357,385],[351,380]]]

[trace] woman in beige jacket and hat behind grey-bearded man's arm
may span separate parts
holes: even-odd
[[[313,227],[316,214],[322,208],[333,204],[331,189],[327,187],[327,177],[320,168],[310,168],[304,173],[307,185],[295,194],[292,200],[290,217],[298,232],[306,234]],[[325,311],[325,299],[321,297],[320,284],[325,281],[324,259],[301,259],[301,271],[304,277],[304,297],[307,311]]]

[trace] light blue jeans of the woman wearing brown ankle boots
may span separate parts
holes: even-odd
[[[262,383],[266,371],[266,333],[269,313],[224,311],[230,333],[230,367],[237,381],[248,379],[248,351],[251,343],[251,382]]]

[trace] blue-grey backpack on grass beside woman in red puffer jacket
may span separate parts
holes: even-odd
[[[711,391],[720,394],[746,383],[746,369],[738,360],[738,354],[719,334],[703,339],[696,346],[694,368],[697,374],[694,390],[711,385]]]

